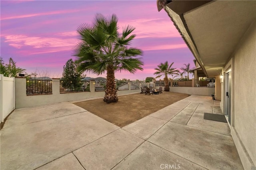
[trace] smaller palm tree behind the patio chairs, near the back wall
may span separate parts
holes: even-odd
[[[161,76],[164,76],[164,91],[170,91],[170,87],[169,87],[169,81],[168,81],[168,75],[169,74],[177,74],[179,70],[176,70],[176,68],[172,68],[172,64],[174,62],[172,62],[169,66],[168,61],[166,61],[165,63],[160,63],[158,65],[158,68],[155,68],[155,70],[157,70],[156,72],[154,72],[154,74],[158,75],[156,76],[156,78],[159,78]]]

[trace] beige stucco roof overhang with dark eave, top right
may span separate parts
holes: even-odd
[[[163,8],[207,77],[221,74],[256,20],[256,1],[173,0]]]

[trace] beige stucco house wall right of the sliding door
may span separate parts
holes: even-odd
[[[244,168],[251,169],[252,162],[256,165],[256,21],[234,52],[232,72],[231,135]]]

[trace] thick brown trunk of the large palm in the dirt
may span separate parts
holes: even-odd
[[[106,103],[117,102],[117,90],[115,83],[115,72],[113,66],[107,66],[107,83],[103,101]]]

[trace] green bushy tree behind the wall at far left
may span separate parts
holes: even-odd
[[[9,59],[9,64],[5,64],[2,57],[0,57],[0,74],[4,74],[6,77],[15,77],[25,70],[26,69],[17,67],[16,62],[14,62],[12,58]]]

